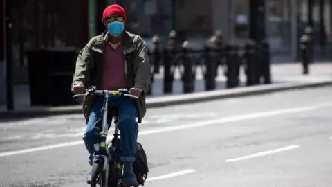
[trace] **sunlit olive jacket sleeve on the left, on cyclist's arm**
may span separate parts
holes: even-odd
[[[86,44],[77,56],[72,87],[75,84],[82,84],[84,87],[87,87],[91,82],[91,67],[93,66],[93,57],[91,56],[92,44],[93,39]]]

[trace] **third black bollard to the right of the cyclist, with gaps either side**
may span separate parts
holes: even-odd
[[[183,62],[183,93],[192,93],[194,91],[194,78],[196,66],[192,59],[192,47],[188,45],[188,42],[183,42],[182,45],[182,62]]]

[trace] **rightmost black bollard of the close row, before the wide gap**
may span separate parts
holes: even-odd
[[[264,78],[264,84],[271,84],[270,64],[270,44],[264,39],[261,41],[261,75]]]

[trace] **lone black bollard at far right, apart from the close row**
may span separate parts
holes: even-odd
[[[301,51],[302,51],[302,74],[309,74],[309,63],[311,62],[311,49],[310,49],[310,36],[302,35],[301,39]]]

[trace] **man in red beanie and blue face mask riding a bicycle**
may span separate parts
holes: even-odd
[[[89,86],[107,90],[129,88],[130,94],[139,96],[138,100],[121,96],[109,98],[110,109],[117,107],[120,118],[121,161],[124,163],[122,184],[134,186],[137,180],[132,166],[138,123],[145,116],[145,93],[151,88],[151,73],[146,44],[140,36],[124,31],[126,21],[126,13],[121,6],[111,5],[104,10],[102,23],[107,31],[93,37],[80,51],[72,87],[75,94],[82,94],[84,88]],[[103,102],[102,97],[84,97],[83,113],[87,127],[83,140],[90,154],[90,164],[95,147],[99,146],[98,130]],[[107,120],[108,124],[111,124],[111,117]],[[90,184],[91,174],[87,182]]]

